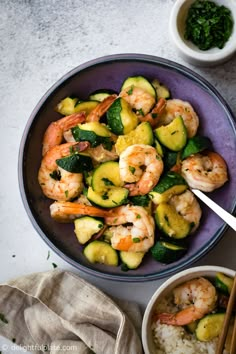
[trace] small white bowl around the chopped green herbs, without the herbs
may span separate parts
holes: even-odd
[[[234,27],[233,32],[224,48],[212,48],[206,51],[200,50],[192,42],[184,38],[185,21],[189,7],[195,0],[176,0],[172,8],[169,22],[170,37],[176,46],[180,56],[190,64],[200,66],[214,66],[230,59],[236,52],[236,1],[213,0],[218,5],[224,5],[230,9]]]

